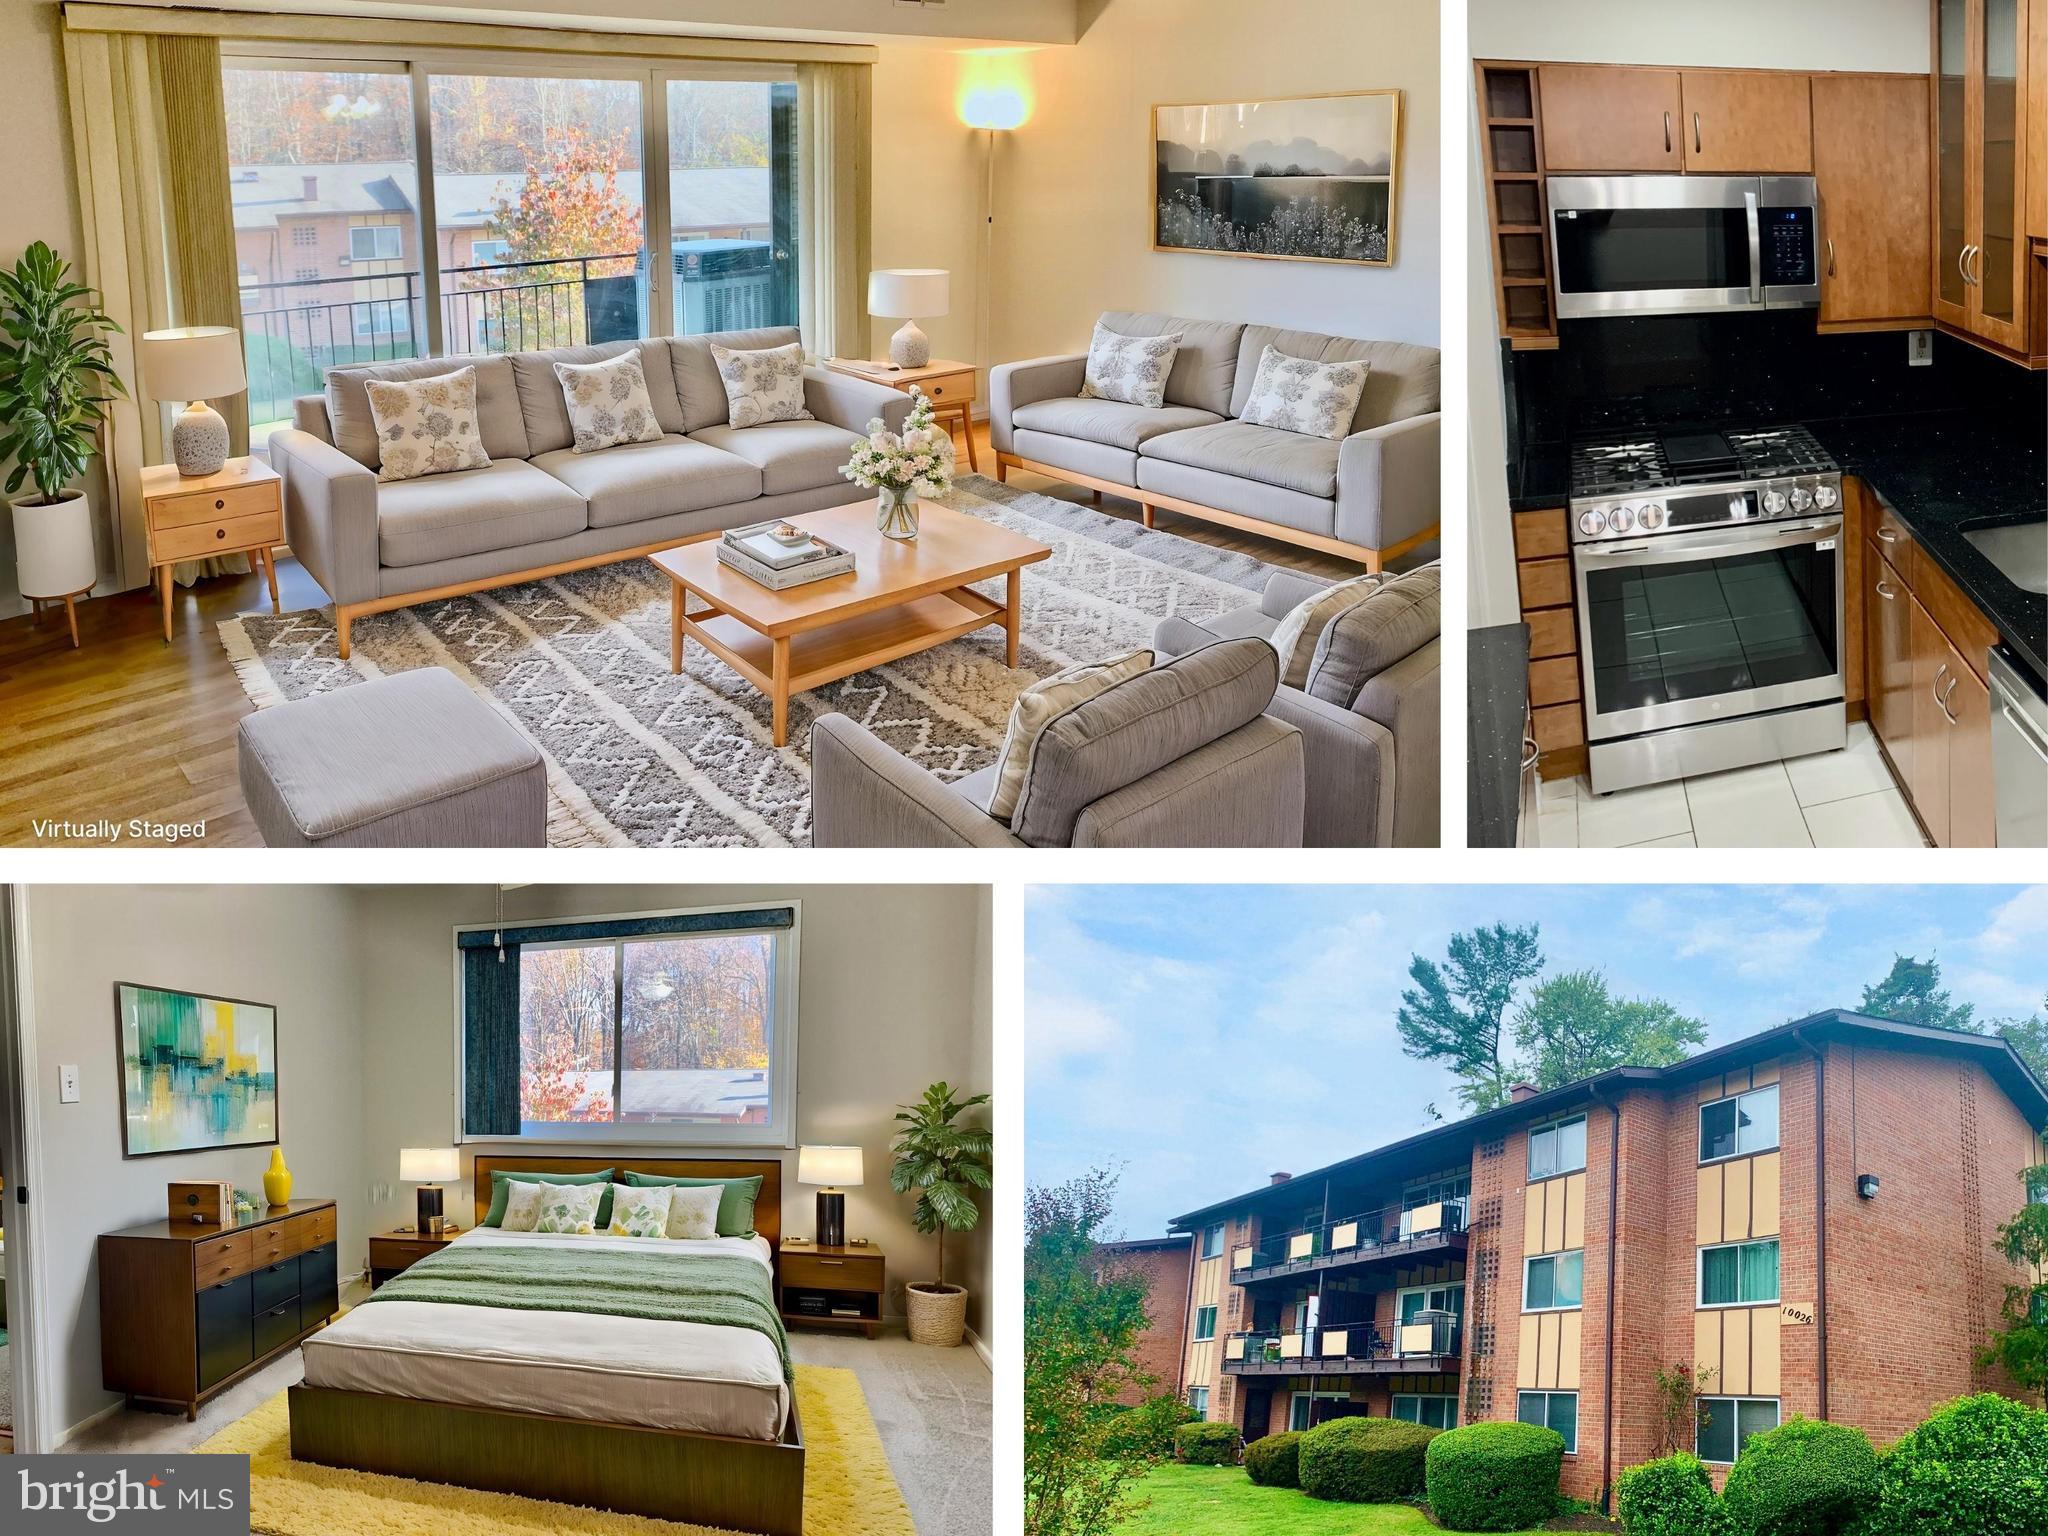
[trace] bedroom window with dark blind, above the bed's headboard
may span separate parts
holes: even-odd
[[[795,1145],[795,907],[463,930],[457,946],[465,1139]]]

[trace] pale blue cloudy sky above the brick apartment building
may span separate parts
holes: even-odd
[[[1546,973],[1597,967],[1708,1044],[1853,1008],[1929,952],[1980,1016],[2048,991],[2048,887],[1040,885],[1026,897],[1026,1178],[1122,1165],[1122,1235],[1458,1116],[1401,1055],[1411,954],[1542,926]]]

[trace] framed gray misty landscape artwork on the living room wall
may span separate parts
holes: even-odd
[[[1153,106],[1153,250],[1393,266],[1401,92]]]

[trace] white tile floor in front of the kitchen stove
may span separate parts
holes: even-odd
[[[1919,848],[1905,797],[1855,721],[1841,752],[1765,762],[1671,784],[1593,795],[1585,776],[1548,778],[1544,848]]]

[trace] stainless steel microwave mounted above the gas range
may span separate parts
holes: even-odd
[[[1821,303],[1812,176],[1550,176],[1561,319]]]

